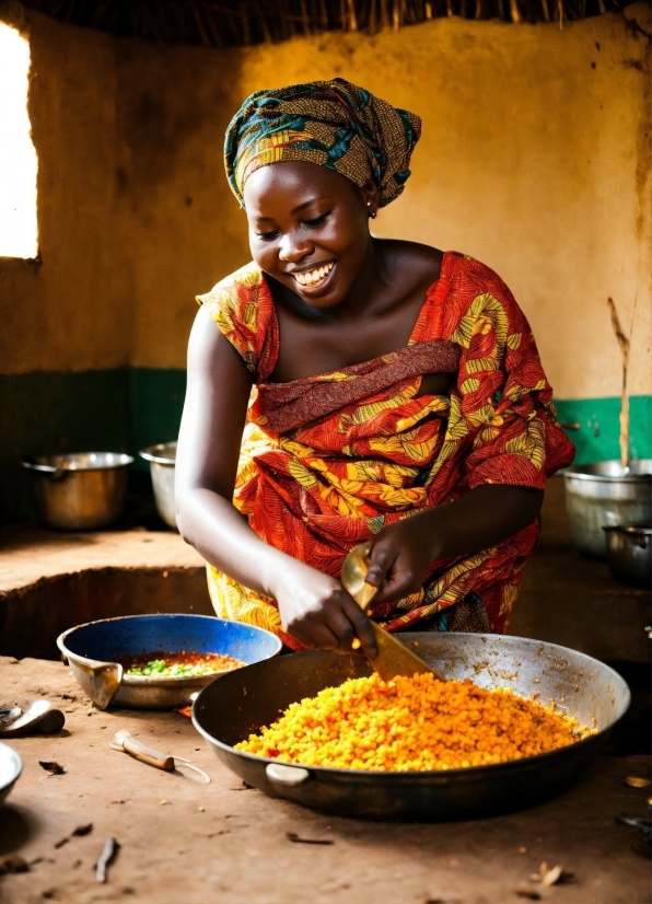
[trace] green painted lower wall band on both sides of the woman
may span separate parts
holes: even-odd
[[[81,373],[0,376],[0,520],[28,513],[23,454],[116,451],[136,454],[176,439],[186,372],[182,369],[119,368]],[[556,399],[569,429],[575,462],[619,457],[619,398]],[[652,459],[652,396],[633,396],[631,455]],[[135,465],[147,471],[137,457]]]

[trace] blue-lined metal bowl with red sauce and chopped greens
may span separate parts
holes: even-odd
[[[127,615],[89,622],[63,631],[57,646],[79,684],[101,709],[109,704],[135,709],[187,706],[191,695],[223,673],[195,677],[127,675],[120,661],[152,653],[221,653],[247,665],[281,649],[276,635],[254,625],[210,615]]]

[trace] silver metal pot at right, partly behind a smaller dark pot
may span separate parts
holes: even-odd
[[[612,460],[568,467],[561,474],[572,541],[585,555],[606,556],[603,528],[652,519],[652,459],[632,461],[627,471]]]

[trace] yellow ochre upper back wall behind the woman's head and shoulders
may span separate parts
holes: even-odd
[[[626,14],[650,27],[642,4]],[[650,393],[644,59],[645,40],[610,14],[563,31],[440,19],[373,38],[328,34],[226,53],[139,47],[120,67],[131,113],[156,96],[171,117],[191,123],[174,165],[156,171],[156,192],[144,172],[135,179],[145,186],[138,201],[150,251],[139,267],[132,362],[182,367],[188,298],[248,257],[221,170],[228,115],[260,88],[341,76],[423,117],[414,175],[381,211],[377,233],[459,250],[497,269],[531,318],[561,398],[619,394],[606,300],[627,328],[636,303],[629,390]],[[179,234],[186,193],[196,207]],[[170,254],[173,243],[178,253]]]

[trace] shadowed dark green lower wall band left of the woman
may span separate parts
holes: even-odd
[[[145,445],[177,438],[185,392],[182,369],[0,375],[0,521],[30,514],[23,455],[136,455]],[[139,457],[133,467],[148,470]]]

